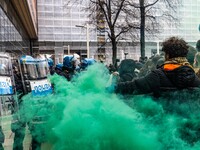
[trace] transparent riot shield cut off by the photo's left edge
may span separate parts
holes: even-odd
[[[13,112],[18,109],[11,58],[0,53],[0,144],[10,138]]]

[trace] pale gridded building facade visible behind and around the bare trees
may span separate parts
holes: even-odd
[[[77,0],[38,0],[38,47],[40,53],[55,54],[58,57],[63,54],[78,53],[86,57],[87,39],[86,24],[89,22],[88,13],[84,8],[88,1]],[[158,4],[159,5],[159,4]],[[161,43],[170,36],[184,38],[191,46],[195,46],[199,38],[199,0],[183,0],[178,6],[176,16],[180,19],[179,25],[171,22],[160,27],[160,33],[156,36],[146,38],[146,56],[150,57],[153,51],[161,49]],[[166,9],[166,8],[165,8]],[[95,12],[94,12],[95,13]],[[173,14],[172,14],[173,15]],[[159,14],[158,14],[159,16]],[[79,27],[77,27],[77,25]],[[80,27],[82,26],[82,27]],[[85,27],[83,27],[85,26]],[[89,27],[90,56],[95,57],[103,54],[108,63],[112,60],[112,47],[106,35],[99,38],[99,33],[95,27]],[[100,35],[102,36],[102,35]],[[126,37],[127,38],[127,37]],[[107,42],[103,49],[99,51],[99,39]],[[139,40],[138,40],[139,41]],[[138,42],[121,40],[118,45],[117,57],[121,60],[125,58],[139,59],[140,46]],[[62,61],[62,58],[58,61]]]

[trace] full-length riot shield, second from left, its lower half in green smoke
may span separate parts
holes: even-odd
[[[25,107],[30,107],[31,109],[32,116],[29,118],[28,125],[32,135],[32,146],[38,145],[38,143],[40,145],[44,143],[41,139],[44,139],[44,127],[48,117],[50,117],[49,113],[47,114],[40,111],[41,108],[47,107],[44,96],[52,93],[52,86],[48,80],[48,61],[46,58],[22,56],[19,60],[19,64],[24,89],[26,94],[30,93],[31,95],[31,98],[25,99],[26,102],[24,103]]]

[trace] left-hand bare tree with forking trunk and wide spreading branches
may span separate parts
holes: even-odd
[[[84,8],[85,11],[89,12],[90,23],[97,27],[99,32],[107,33],[112,44],[112,62],[115,67],[117,65],[117,44],[119,40],[129,31],[139,29],[138,24],[135,25],[133,22],[128,21],[129,17],[133,16],[134,11],[127,11],[128,8],[125,8],[128,6],[126,5],[127,1],[88,0],[88,5]]]

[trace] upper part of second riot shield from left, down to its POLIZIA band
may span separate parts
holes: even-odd
[[[26,93],[31,92],[33,96],[52,93],[51,83],[47,78],[49,73],[47,59],[23,56],[20,59],[20,70]]]

